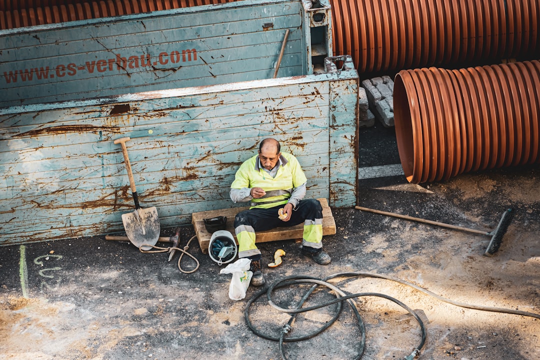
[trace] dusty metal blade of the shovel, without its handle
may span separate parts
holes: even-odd
[[[159,217],[155,206],[136,209],[132,213],[122,214],[126,235],[131,243],[142,249],[152,249],[159,239]],[[145,244],[146,246],[141,246]]]

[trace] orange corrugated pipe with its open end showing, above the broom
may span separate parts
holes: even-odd
[[[394,121],[407,180],[540,162],[538,84],[537,60],[400,71]]]

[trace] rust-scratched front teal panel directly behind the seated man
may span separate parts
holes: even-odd
[[[300,42],[310,46],[304,27],[312,15],[296,14]],[[302,72],[0,108],[0,244],[122,231],[133,202],[113,140],[125,136],[140,205],[157,207],[162,228],[190,223],[193,212],[244,205],[229,199],[230,184],[269,136],[299,158],[307,196],[354,205],[357,72],[350,57],[328,58],[322,73]]]

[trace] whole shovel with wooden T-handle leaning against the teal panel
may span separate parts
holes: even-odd
[[[124,223],[127,238],[130,239],[131,243],[141,250],[150,250],[159,239],[158,210],[155,206],[146,209],[139,206],[139,198],[137,196],[137,189],[135,188],[135,181],[133,181],[130,159],[127,157],[126,141],[128,140],[130,140],[129,137],[114,140],[114,144],[122,145],[127,176],[130,178],[131,193],[135,202],[135,211],[122,214],[122,222]]]

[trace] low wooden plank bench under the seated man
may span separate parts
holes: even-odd
[[[334,216],[332,215],[332,209],[328,206],[328,201],[324,198],[317,199],[322,206],[322,235],[334,235],[336,233],[336,224],[334,221]],[[208,253],[208,244],[210,243],[210,237],[212,234],[206,231],[204,226],[204,219],[212,219],[216,216],[227,216],[227,227],[226,230],[234,236],[236,240],[236,235],[234,234],[234,217],[236,214],[242,210],[249,209],[249,206],[246,207],[236,207],[229,209],[218,209],[218,210],[208,210],[198,213],[193,213],[191,215],[191,223],[195,229],[195,234],[199,240],[199,246],[203,251],[203,254]],[[302,239],[303,234],[303,224],[291,226],[291,227],[280,227],[272,230],[266,230],[257,232],[257,237],[255,242],[266,242],[266,241],[277,241],[277,240],[289,240],[289,239]],[[238,240],[236,240],[238,243]]]

